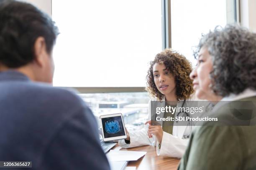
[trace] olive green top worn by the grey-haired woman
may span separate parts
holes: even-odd
[[[251,116],[252,120],[255,118],[256,97],[250,97],[243,100],[252,101],[253,103],[253,114]],[[231,102],[231,104],[232,103],[233,102]],[[237,102],[235,104],[236,106],[239,105]],[[240,108],[246,108],[244,105],[242,105],[243,103],[241,103]],[[224,105],[216,111],[217,115],[219,114],[217,117],[219,117],[219,120],[222,120],[224,123],[209,124],[195,128],[191,135],[187,150],[180,161],[178,169],[255,170],[255,122],[251,121],[250,126],[238,126],[236,124],[227,125],[227,122],[229,122],[228,118],[230,117],[230,112],[233,115],[233,118],[248,114],[246,111],[246,113],[243,114],[243,110],[245,109],[241,110],[239,111],[242,113],[237,115],[237,113],[234,113],[236,111],[232,109],[227,110]],[[212,114],[215,114],[216,112],[213,112]]]

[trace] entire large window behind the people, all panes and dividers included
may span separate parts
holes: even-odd
[[[141,128],[148,118],[148,62],[172,44],[195,64],[192,47],[202,32],[234,22],[234,2],[52,0],[61,33],[53,54],[54,85],[76,87],[97,120],[121,112],[126,128]]]

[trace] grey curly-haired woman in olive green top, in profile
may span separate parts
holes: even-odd
[[[220,100],[211,113],[218,122],[195,128],[179,170],[254,170],[256,33],[238,25],[217,27],[197,49],[190,77],[198,98]]]

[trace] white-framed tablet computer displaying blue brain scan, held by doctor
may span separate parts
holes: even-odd
[[[127,138],[121,113],[101,115],[100,122],[102,125],[103,141]]]

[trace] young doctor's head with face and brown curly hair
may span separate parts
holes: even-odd
[[[194,92],[189,78],[191,71],[191,64],[186,57],[171,49],[164,50],[150,62],[146,90],[157,100],[163,100],[163,97],[169,101],[188,99]],[[160,73],[163,73],[163,77]],[[163,86],[166,81],[171,84]]]

